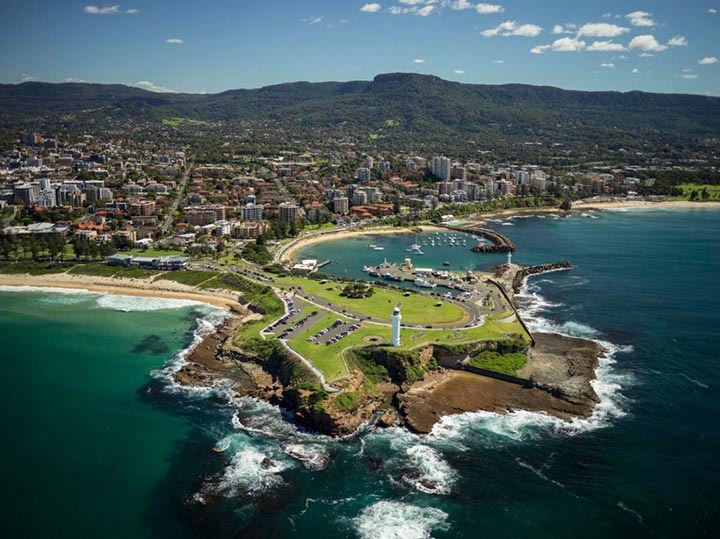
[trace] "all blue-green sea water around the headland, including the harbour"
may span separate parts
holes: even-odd
[[[481,412],[446,418],[426,438],[364,429],[329,440],[222,387],[169,383],[217,311],[0,291],[2,536],[717,536],[720,211],[586,215],[495,223],[517,262],[575,264],[530,279],[531,327],[610,350],[602,403],[572,424]],[[302,256],[360,277],[378,254],[402,261],[411,240],[317,244]],[[423,249],[418,266],[505,258]],[[423,477],[439,492],[423,492]]]

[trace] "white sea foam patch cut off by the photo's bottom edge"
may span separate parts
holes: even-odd
[[[429,539],[433,530],[447,530],[448,515],[434,507],[380,501],[353,519],[362,539]]]

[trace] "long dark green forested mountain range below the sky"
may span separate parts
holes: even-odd
[[[0,85],[0,123],[5,126],[98,109],[117,118],[269,122],[297,132],[327,130],[394,141],[632,147],[638,139],[676,144],[720,137],[717,97],[463,84],[410,73],[218,94],[160,94],[118,84]]]

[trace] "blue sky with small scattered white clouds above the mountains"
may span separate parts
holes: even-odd
[[[2,0],[0,82],[214,93],[417,72],[720,95],[720,0],[113,1]]]

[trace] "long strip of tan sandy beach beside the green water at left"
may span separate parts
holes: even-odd
[[[89,275],[51,273],[47,275],[0,274],[0,286],[32,286],[42,288],[71,288],[123,296],[180,299],[208,303],[215,307],[244,313],[238,295],[229,291],[199,290],[174,281],[149,279],[116,279]]]

